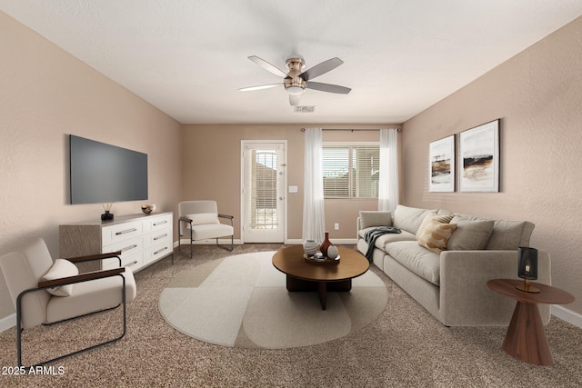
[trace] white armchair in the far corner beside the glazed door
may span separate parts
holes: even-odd
[[[192,245],[196,240],[216,238],[216,245],[232,251],[234,246],[235,228],[233,216],[219,214],[216,201],[184,201],[178,204],[178,230],[180,237],[189,234],[190,255],[192,258]],[[230,221],[230,224],[222,224],[220,219]],[[230,247],[218,244],[219,237],[230,237]],[[182,252],[181,238],[178,238],[178,251]]]

